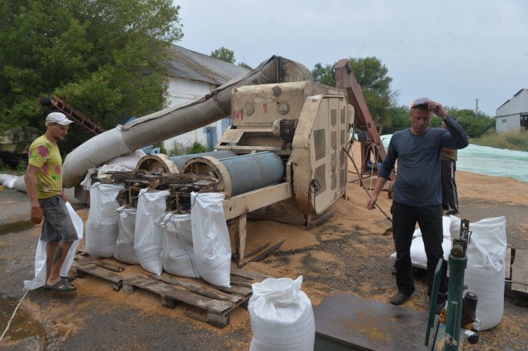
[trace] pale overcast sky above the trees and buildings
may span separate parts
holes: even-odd
[[[183,39],[209,55],[225,46],[255,67],[276,54],[313,69],[376,56],[399,104],[496,109],[528,88],[528,1],[175,0]]]

